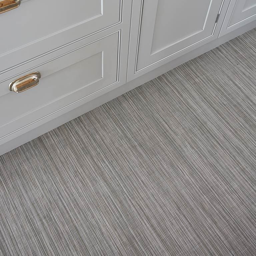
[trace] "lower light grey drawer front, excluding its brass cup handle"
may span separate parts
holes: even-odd
[[[0,83],[0,140],[117,82],[119,32],[49,60]],[[9,83],[31,72],[39,84],[21,93]]]

